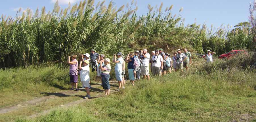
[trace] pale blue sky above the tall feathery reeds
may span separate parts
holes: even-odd
[[[54,3],[57,0],[0,0],[0,14],[7,16],[16,16],[16,12],[21,7],[22,10],[26,8],[32,9],[33,12],[37,8],[41,10],[43,6],[46,7],[46,11],[52,11],[54,8]],[[80,2],[80,0],[58,0],[62,8],[66,8],[68,3]],[[98,1],[95,0],[95,4]],[[111,0],[106,0],[105,4]],[[112,0],[114,5],[119,8],[122,5],[131,5],[132,0]],[[163,3],[162,11],[166,7],[173,5],[171,12],[174,14],[180,15],[182,18],[185,18],[184,25],[187,24],[206,24],[207,27],[210,27],[213,24],[213,27],[220,27],[223,25],[234,25],[239,22],[248,21],[249,15],[249,2],[253,0],[137,0],[137,15],[142,16],[146,15],[148,12],[148,4],[151,6],[160,6]],[[136,0],[135,0],[136,2]],[[134,2],[134,3],[135,3]],[[134,7],[134,5],[133,5]],[[183,7],[183,10],[179,10]],[[21,12],[22,13],[22,12]]]

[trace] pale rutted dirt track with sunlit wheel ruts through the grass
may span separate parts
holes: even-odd
[[[117,82],[110,81],[110,85],[112,85],[111,92],[116,91],[116,87],[115,87],[116,84],[117,84]],[[94,96],[92,96],[92,98],[98,98],[98,97],[101,97],[101,96],[104,95],[104,91],[102,91],[102,90],[101,91],[95,91],[96,87],[99,87],[99,84],[92,85],[91,92],[96,93]],[[80,88],[78,92],[85,92],[85,89],[84,88]],[[46,93],[47,96],[44,96],[44,97],[35,98],[35,99],[29,100],[29,101],[25,101],[25,102],[21,102],[21,103],[12,105],[12,106],[0,108],[0,114],[5,114],[5,113],[8,113],[8,112],[13,112],[13,111],[19,110],[20,108],[24,108],[24,107],[28,107],[28,106],[33,106],[33,105],[39,104],[41,102],[45,102],[45,101],[47,101],[49,99],[56,98],[56,97],[73,96],[73,95],[75,95],[78,92],[77,91],[69,91],[68,90],[68,91],[62,91],[62,92],[57,92],[57,93]],[[58,107],[68,107],[68,106],[72,106],[72,105],[79,104],[79,103],[84,102],[84,101],[90,101],[90,100],[92,100],[92,99],[81,99],[81,100],[77,100],[77,101],[74,101],[74,102],[71,102],[71,103],[67,103],[67,104],[64,104],[64,105],[61,105],[61,106],[58,106]],[[51,110],[45,110],[42,113],[36,113],[36,114],[31,115],[30,117],[31,118],[37,117],[39,115],[46,114],[46,113],[50,112]]]

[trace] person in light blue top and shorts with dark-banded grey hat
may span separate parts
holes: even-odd
[[[117,55],[117,60],[116,60],[116,55]],[[119,91],[121,89],[121,87],[125,88],[123,85],[123,78],[122,78],[122,72],[123,72],[123,58],[122,58],[122,53],[118,52],[117,54],[114,54],[114,60],[113,63],[116,64],[115,66],[115,73],[116,73],[116,80],[118,81],[118,89],[117,91]]]

